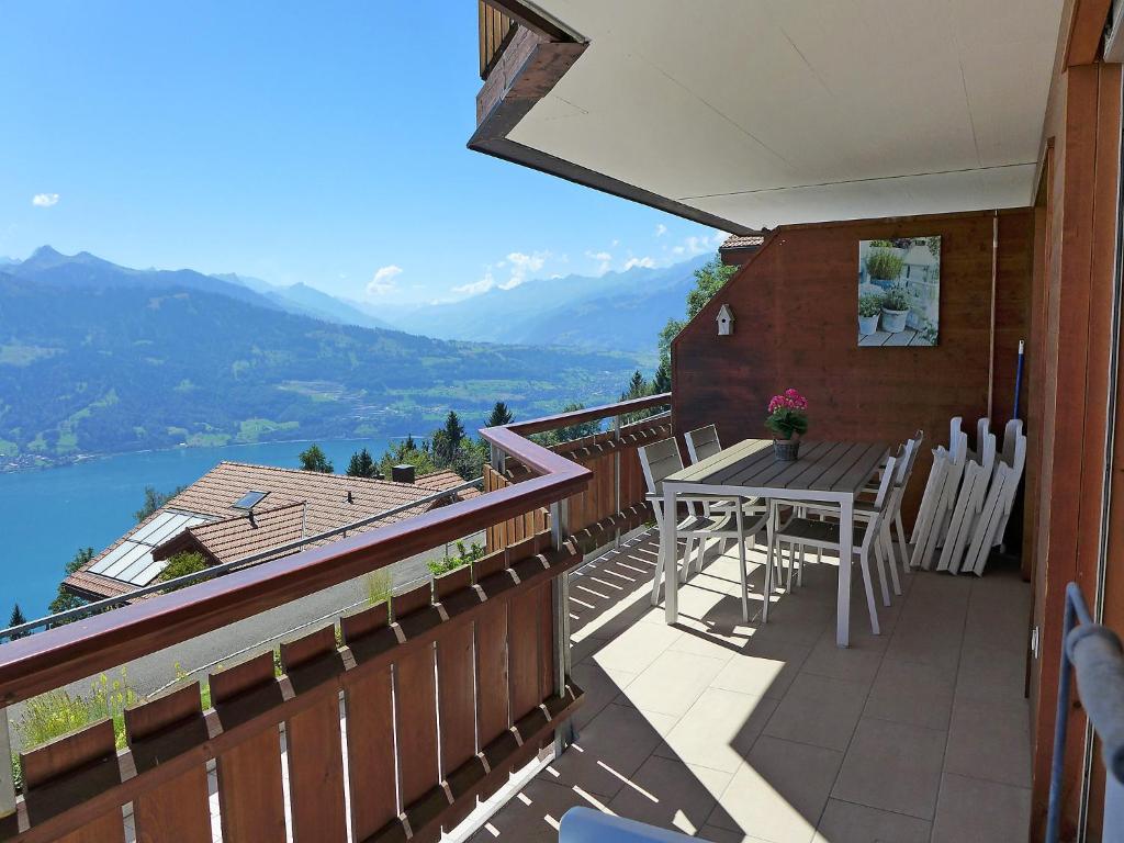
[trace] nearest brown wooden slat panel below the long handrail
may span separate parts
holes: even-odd
[[[542,529],[432,583],[21,755],[15,837],[146,843],[436,841],[547,744],[582,697],[555,664],[553,580],[574,543]],[[345,792],[345,768],[347,787]],[[287,785],[284,783],[287,779]]]

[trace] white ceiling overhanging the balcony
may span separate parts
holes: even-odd
[[[744,226],[1028,205],[1062,0],[538,0],[510,139]]]

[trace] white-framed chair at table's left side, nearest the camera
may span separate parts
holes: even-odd
[[[644,481],[647,484],[647,500],[652,504],[652,511],[655,515],[655,523],[661,536],[671,518],[678,518],[677,513],[663,511],[663,480],[683,468],[682,459],[679,456],[679,446],[673,438],[662,439],[651,445],[637,448],[640,452],[641,466],[644,470]],[[737,560],[741,571],[742,582],[742,620],[749,623],[749,577],[745,563],[745,540],[755,536],[765,526],[767,518],[762,516],[746,523],[746,516],[742,507],[734,506],[726,510],[715,509],[709,515],[700,513],[699,509],[706,505],[720,504],[722,499],[699,495],[678,496],[680,501],[687,505],[687,517],[676,526],[678,535],[687,538],[687,552],[683,556],[683,574],[680,581],[686,579],[690,568],[691,547],[698,543],[698,570],[703,568],[703,554],[706,550],[706,542],[709,538],[733,538],[737,542]],[[728,500],[726,501],[729,502]],[[661,542],[662,546],[662,542]],[[678,553],[678,547],[672,549],[672,554]],[[656,565],[655,578],[652,582],[652,605],[660,600],[660,583],[669,575],[673,575],[678,569],[674,559],[665,559],[660,554]],[[678,575],[678,574],[676,574]]]

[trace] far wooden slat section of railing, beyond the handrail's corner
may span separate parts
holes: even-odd
[[[568,498],[569,533],[583,551],[604,546],[615,533],[626,533],[651,517],[637,448],[669,436],[671,423],[664,416],[625,425],[619,436],[607,430],[551,446],[554,453],[593,472],[588,487]],[[484,466],[484,491],[504,489],[529,477],[526,468],[508,457],[502,472]],[[487,532],[488,550],[502,550],[542,529],[550,529],[546,509],[497,524]]]

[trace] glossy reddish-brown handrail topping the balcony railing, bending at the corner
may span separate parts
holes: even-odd
[[[109,670],[580,492],[592,472],[525,438],[670,402],[651,396],[490,427],[481,436],[540,477],[218,579],[0,644],[0,706]]]

